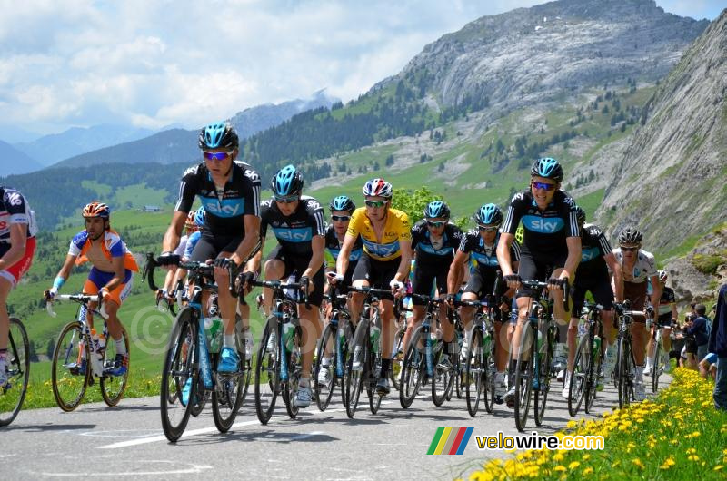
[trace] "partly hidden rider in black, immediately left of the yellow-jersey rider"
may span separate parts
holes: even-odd
[[[344,243],[346,231],[348,230],[348,224],[351,221],[351,215],[356,210],[356,204],[350,198],[345,195],[339,195],[331,200],[328,204],[328,208],[331,211],[331,225],[325,231],[325,250],[327,252],[326,257],[330,256],[332,265],[330,270],[335,271],[335,261],[338,259],[338,254],[341,252],[341,246]],[[359,237],[354,243],[354,249],[351,250],[351,254],[348,256],[348,270],[344,275],[344,285],[351,284],[351,278],[354,276],[354,269],[358,260],[361,259],[361,254],[364,251],[364,242]],[[328,292],[328,284],[325,285],[325,292]],[[330,318],[331,309],[325,309],[326,321]],[[331,371],[328,366],[331,364],[330,347],[325,347],[325,352],[321,358],[321,365],[323,368],[318,372],[318,384],[321,386],[328,386],[331,377]]]

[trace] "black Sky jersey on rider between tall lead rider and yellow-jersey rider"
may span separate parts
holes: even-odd
[[[275,239],[285,252],[310,259],[314,236],[325,236],[324,210],[313,197],[301,196],[298,208],[289,216],[278,210],[273,199],[260,204],[260,235],[265,236],[267,226],[273,229]]]

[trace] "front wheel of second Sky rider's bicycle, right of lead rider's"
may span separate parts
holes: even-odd
[[[271,316],[265,324],[255,362],[255,411],[262,424],[267,424],[273,416],[275,400],[280,391],[279,334],[278,321]],[[271,336],[274,337],[273,341]]]

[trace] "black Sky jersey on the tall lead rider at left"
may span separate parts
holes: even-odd
[[[230,179],[219,192],[204,162],[187,169],[174,210],[189,212],[195,195],[206,211],[203,231],[214,235],[244,237],[243,216],[260,216],[260,176],[244,162],[233,162]]]

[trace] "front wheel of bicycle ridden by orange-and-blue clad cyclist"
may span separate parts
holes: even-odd
[[[51,366],[53,397],[65,412],[73,411],[84,398],[91,378],[91,366],[85,358],[87,352],[81,323],[75,320],[66,324],[55,343]]]

